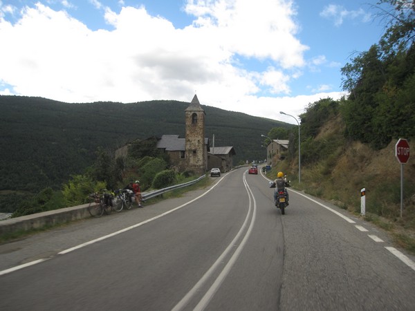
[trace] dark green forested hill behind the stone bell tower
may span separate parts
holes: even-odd
[[[68,104],[41,97],[0,96],[0,190],[61,187],[95,160],[98,147],[163,134],[185,134],[188,102]],[[216,146],[233,146],[240,160],[266,158],[261,134],[290,124],[202,105],[205,135]]]

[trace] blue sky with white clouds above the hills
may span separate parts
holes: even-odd
[[[0,0],[0,95],[131,103],[196,94],[297,124],[309,104],[347,95],[341,68],[385,31],[377,2]]]

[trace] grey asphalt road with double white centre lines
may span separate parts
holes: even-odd
[[[207,189],[0,245],[0,310],[414,310],[414,256],[237,169]]]

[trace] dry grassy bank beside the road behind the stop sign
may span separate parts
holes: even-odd
[[[340,115],[321,124],[313,144],[322,147],[315,162],[302,164],[298,185],[298,158],[277,164],[288,173],[295,189],[331,200],[335,205],[360,214],[360,189],[366,189],[366,220],[391,232],[400,247],[415,254],[415,157],[404,165],[404,204],[400,218],[400,164],[392,140],[375,150],[369,144],[344,138]],[[409,144],[413,142],[409,142]]]

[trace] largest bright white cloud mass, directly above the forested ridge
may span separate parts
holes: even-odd
[[[181,29],[143,6],[115,12],[89,3],[110,30],[91,30],[70,10],[40,2],[22,10],[16,23],[0,18],[1,41],[10,42],[0,49],[0,87],[8,86],[0,93],[62,102],[189,102],[196,90],[201,104],[275,118],[278,105],[288,104],[286,113],[293,114],[308,104],[307,97],[285,97],[306,67],[308,49],[296,38],[292,1],[187,0],[194,21]],[[268,66],[236,66],[239,56]]]

